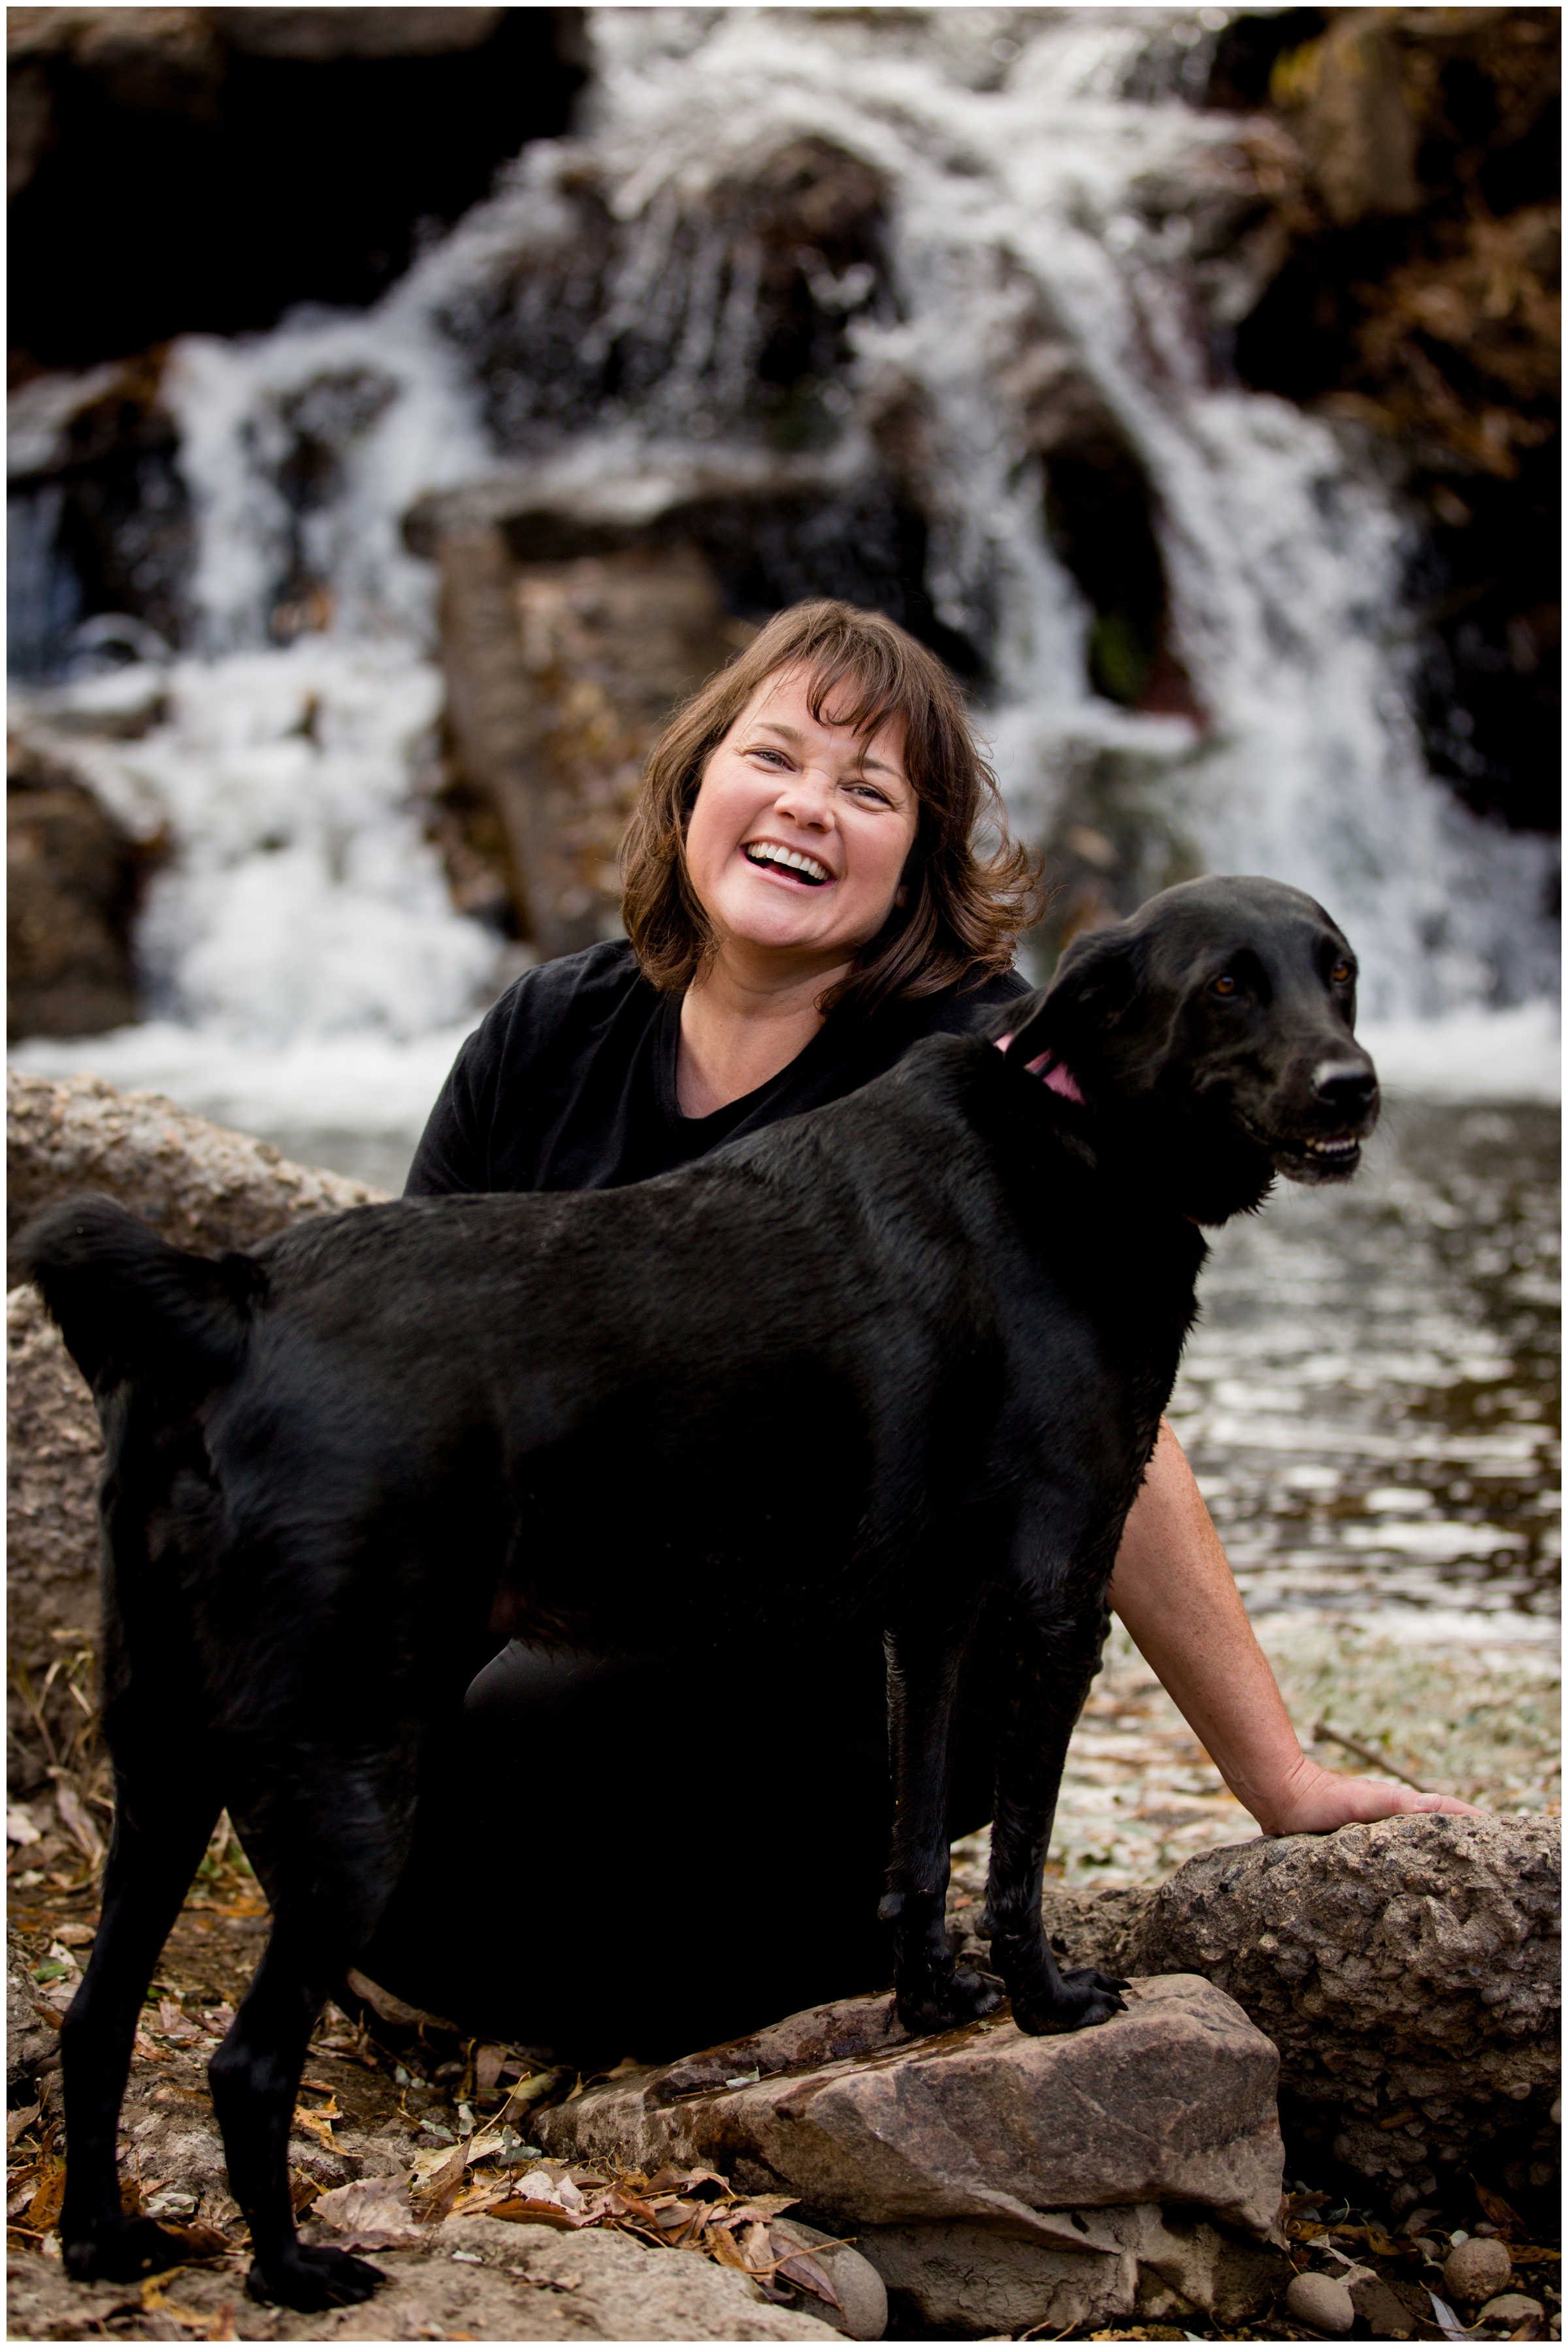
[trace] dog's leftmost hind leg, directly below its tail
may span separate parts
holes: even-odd
[[[202,1782],[204,1770],[181,1754],[157,1782],[138,1770],[115,1784],[103,1914],[61,2024],[68,2155],[61,2247],[77,2282],[134,2282],[183,2256],[162,2226],[122,2214],[115,2139],[141,2000],[218,1822],[221,1799],[202,1792]]]

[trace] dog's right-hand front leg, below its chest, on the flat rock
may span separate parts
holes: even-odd
[[[1061,1770],[1101,1641],[1087,1644],[1075,1625],[1047,1630],[1019,1608],[1007,1646],[981,1932],[991,1935],[991,1961],[1007,1984],[1019,2029],[1030,2036],[1077,2031],[1120,2015],[1120,1991],[1127,1989],[1094,1965],[1061,1972],[1040,1911]]]

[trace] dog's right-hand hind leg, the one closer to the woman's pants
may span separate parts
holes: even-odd
[[[251,2228],[251,2296],[312,2315],[369,2299],[383,2280],[364,2259],[298,2240],[289,2130],[317,2015],[380,1918],[406,1857],[408,1817],[387,1792],[387,1773],[354,1756],[315,1745],[268,1761],[272,1784],[289,1792],[235,1810],[272,1892],[272,1937],[207,2078],[230,2193]]]

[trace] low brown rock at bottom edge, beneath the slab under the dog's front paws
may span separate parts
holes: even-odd
[[[1021,2242],[998,2226],[873,2226],[859,2247],[890,2292],[939,2332],[1077,2329],[1129,2317],[1204,2313],[1221,2325],[1258,2315],[1291,2275],[1282,2249],[1211,2224],[1190,2207],[1061,2212],[1075,2233]]]

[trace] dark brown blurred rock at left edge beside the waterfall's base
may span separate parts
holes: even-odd
[[[146,859],[73,768],[12,737],[5,780],[7,1035],[124,1026]]]

